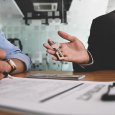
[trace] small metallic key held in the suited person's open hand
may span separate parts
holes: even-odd
[[[59,43],[52,42],[51,47],[56,51],[56,55],[58,59],[60,59],[60,57],[64,57],[62,52],[59,49]]]

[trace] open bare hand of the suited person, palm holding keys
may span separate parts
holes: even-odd
[[[68,40],[66,43],[60,43],[60,51],[64,55],[64,57],[59,59],[60,61],[74,62],[77,64],[89,63],[89,54],[83,43],[78,38],[62,31],[59,31],[58,35],[63,39]],[[49,44],[52,44],[51,39],[48,39],[48,43],[44,43],[43,46],[47,49],[49,54],[53,55],[53,60],[58,60],[58,58],[55,56],[56,52]]]

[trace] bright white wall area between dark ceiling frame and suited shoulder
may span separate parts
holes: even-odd
[[[74,0],[70,9],[68,32],[77,36],[87,47],[92,20],[106,11],[108,0]],[[73,31],[75,30],[75,31]]]

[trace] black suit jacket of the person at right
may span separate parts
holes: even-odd
[[[115,11],[93,20],[88,50],[92,54],[94,64],[83,69],[73,63],[74,71],[115,69]]]

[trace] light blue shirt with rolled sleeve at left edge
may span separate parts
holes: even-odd
[[[6,51],[6,59],[16,58],[24,62],[26,70],[31,69],[31,60],[30,58],[23,54],[21,50],[11,44],[4,36],[3,32],[0,32],[0,49]]]

